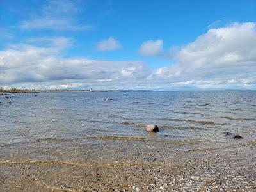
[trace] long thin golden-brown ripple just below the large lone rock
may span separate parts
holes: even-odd
[[[193,145],[193,144],[198,144],[202,142],[202,141],[159,141],[159,140],[151,140],[147,138],[118,137],[118,136],[102,136],[99,138],[104,140],[147,141],[147,142],[154,142],[154,143],[166,143],[166,144],[176,144],[176,145]]]

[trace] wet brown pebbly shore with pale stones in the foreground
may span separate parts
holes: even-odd
[[[115,143],[116,145],[120,145],[120,142],[128,142],[126,144],[129,145],[134,140],[115,142],[118,142]],[[147,144],[144,143],[145,141],[135,142],[139,142],[139,145]],[[168,144],[161,143],[161,145]],[[116,150],[116,155],[111,153],[108,159],[102,156],[97,162],[87,163],[85,161],[1,161],[0,189],[1,191],[256,190],[255,143],[237,145],[236,148],[230,149],[195,147],[193,150],[175,154],[153,150],[153,152],[133,155],[127,152],[127,156],[116,158],[118,155],[120,154]],[[145,161],[138,160],[142,156]],[[177,160],[170,161],[172,156],[176,156]]]

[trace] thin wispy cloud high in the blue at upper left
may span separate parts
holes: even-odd
[[[45,4],[41,12],[33,19],[23,20],[20,29],[53,29],[65,31],[81,31],[93,29],[92,25],[76,24],[74,15],[79,12],[76,1],[52,0]]]

